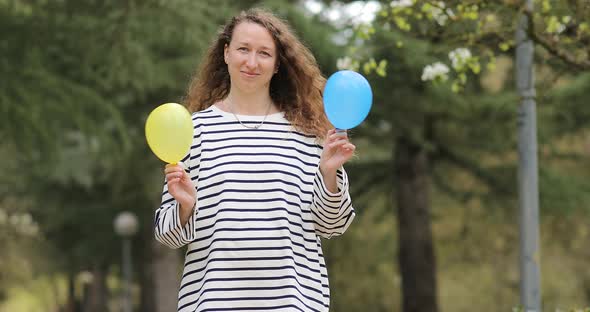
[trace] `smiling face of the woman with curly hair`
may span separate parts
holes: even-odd
[[[259,24],[242,22],[224,49],[232,88],[246,93],[268,92],[277,70],[277,49],[271,34]]]

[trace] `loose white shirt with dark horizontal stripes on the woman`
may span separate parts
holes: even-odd
[[[183,162],[198,190],[194,214],[180,224],[166,183],[155,213],[158,241],[188,244],[178,311],[328,311],[320,237],[344,233],[354,218],[346,172],[330,192],[322,147],[283,113],[258,129],[215,106],[192,118]],[[238,118],[252,126],[264,117]]]

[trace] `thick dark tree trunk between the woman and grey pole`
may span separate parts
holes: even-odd
[[[398,138],[394,168],[402,311],[437,312],[427,153],[422,146]]]

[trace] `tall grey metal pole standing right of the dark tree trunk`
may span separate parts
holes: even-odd
[[[532,0],[526,1],[526,9],[532,12]],[[534,45],[527,35],[527,28],[528,16],[523,15],[516,31],[516,86],[521,97],[518,111],[520,296],[525,312],[541,312]]]

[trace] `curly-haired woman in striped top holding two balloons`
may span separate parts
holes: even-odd
[[[289,27],[261,10],[231,19],[187,102],[194,142],[167,165],[156,239],[188,244],[178,311],[328,311],[320,237],[354,218],[322,77]],[[323,145],[323,147],[322,147]]]

